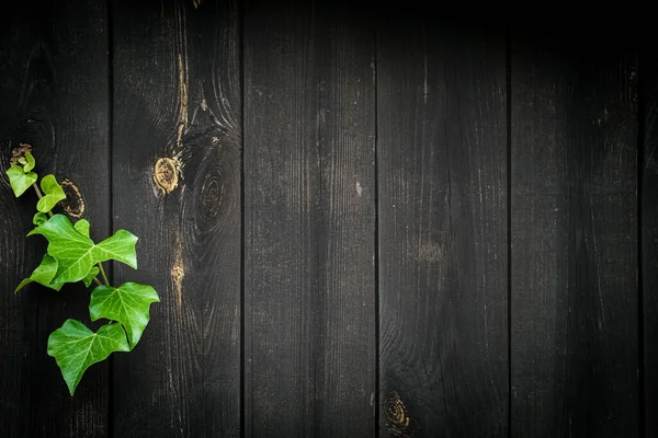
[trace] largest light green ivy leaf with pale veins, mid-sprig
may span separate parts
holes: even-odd
[[[75,283],[83,279],[99,262],[115,260],[137,269],[135,243],[137,237],[118,230],[98,245],[76,230],[64,215],[55,215],[27,235],[42,234],[48,240],[48,254],[57,258],[56,283]]]

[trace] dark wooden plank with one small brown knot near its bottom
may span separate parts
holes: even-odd
[[[377,39],[381,436],[508,433],[506,42]]]

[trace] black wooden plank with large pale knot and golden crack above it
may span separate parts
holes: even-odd
[[[118,437],[240,433],[239,11],[114,3],[114,228],[161,303],[114,362]]]

